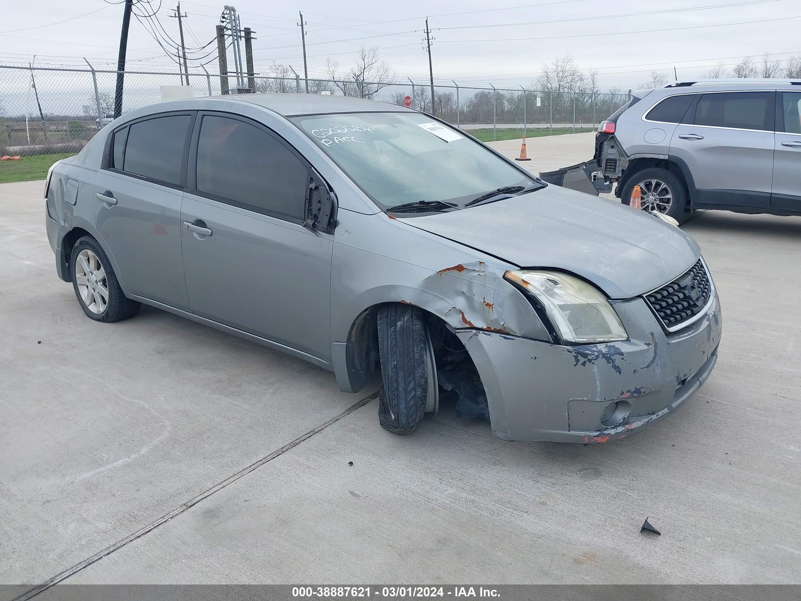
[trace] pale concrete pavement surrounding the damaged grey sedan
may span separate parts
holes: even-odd
[[[530,168],[590,140],[530,139]],[[449,405],[396,437],[375,387],[156,309],[90,321],[41,192],[0,186],[0,583],[801,583],[801,219],[686,224],[717,368],[650,430],[571,446]]]

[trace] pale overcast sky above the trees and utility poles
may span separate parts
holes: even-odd
[[[115,63],[122,4],[104,0],[0,1],[0,63],[27,64],[33,54],[42,65],[85,66],[83,56],[96,67]],[[499,87],[514,87],[536,79],[543,62],[570,54],[580,67],[599,70],[603,89],[625,89],[649,79],[651,69],[664,70],[673,79],[675,65],[679,79],[691,79],[702,76],[715,63],[731,69],[744,55],[770,51],[776,59],[783,59],[801,54],[799,0],[227,2],[235,2],[242,26],[257,32],[254,56],[256,71],[261,73],[275,60],[302,74],[298,10],[308,21],[310,76],[324,73],[328,56],[347,71],[361,46],[377,46],[380,58],[390,63],[399,77],[427,79],[428,60],[421,43],[427,15],[436,38],[434,76],[460,83],[491,81]],[[139,2],[135,10],[139,14],[157,10],[164,29],[159,30],[161,37],[168,34],[178,40],[177,19],[169,18],[175,5],[175,0],[162,0],[159,7],[159,0],[152,0],[150,4]],[[726,6],[704,8],[720,5]],[[187,46],[196,48],[209,42],[222,4],[215,0],[181,2],[181,9],[188,14]],[[619,16],[632,13],[639,14]],[[51,25],[66,19],[72,20]],[[132,69],[177,68],[137,19],[131,20],[128,48]],[[212,50],[214,54],[191,64],[214,58],[215,45],[192,52],[191,57],[200,58]],[[216,63],[207,68],[216,71]]]

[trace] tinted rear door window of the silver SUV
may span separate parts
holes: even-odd
[[[770,92],[704,94],[695,107],[695,125],[767,130]]]

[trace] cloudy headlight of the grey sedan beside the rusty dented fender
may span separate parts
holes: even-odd
[[[564,341],[585,345],[629,337],[602,293],[578,277],[520,270],[506,272],[505,278],[540,301]]]

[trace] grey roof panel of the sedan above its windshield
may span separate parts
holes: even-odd
[[[376,100],[326,94],[231,94],[215,96],[256,104],[284,117],[297,115],[326,115],[334,113],[417,112],[410,108]]]

